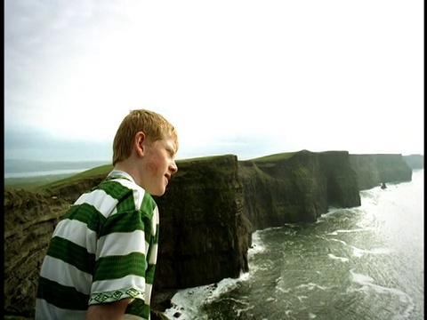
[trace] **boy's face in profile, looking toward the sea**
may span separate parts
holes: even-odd
[[[146,144],[141,187],[150,195],[162,196],[165,193],[169,180],[178,171],[175,155],[176,144],[172,137]]]

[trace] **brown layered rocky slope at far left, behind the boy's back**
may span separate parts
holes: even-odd
[[[28,316],[53,228],[68,208],[63,199],[4,191],[4,310]]]

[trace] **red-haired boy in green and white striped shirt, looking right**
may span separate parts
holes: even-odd
[[[53,232],[40,272],[37,320],[149,319],[158,209],[178,171],[178,137],[163,116],[132,110],[113,141],[113,170]]]

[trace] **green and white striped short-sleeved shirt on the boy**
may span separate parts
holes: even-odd
[[[36,320],[85,319],[89,305],[132,299],[124,319],[149,319],[158,245],[154,199],[112,171],[58,223],[40,272]]]

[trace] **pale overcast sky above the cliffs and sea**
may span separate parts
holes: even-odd
[[[177,159],[422,154],[422,0],[5,0],[4,158],[106,160],[131,109]]]

